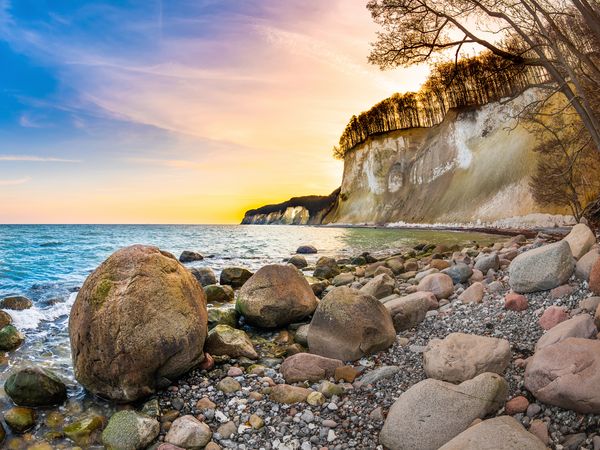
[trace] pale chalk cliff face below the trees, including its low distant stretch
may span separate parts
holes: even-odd
[[[339,195],[309,211],[297,202],[248,211],[243,223],[553,226],[529,187],[537,155],[515,116],[540,95],[450,109],[432,127],[370,136],[344,154]],[[265,209],[266,208],[266,209]]]

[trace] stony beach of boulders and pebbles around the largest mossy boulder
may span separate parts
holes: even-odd
[[[208,299],[199,366],[168,387],[156,386],[154,394],[136,393],[112,417],[98,411],[69,416],[63,407],[60,425],[51,426],[57,410],[34,408],[37,420],[21,431],[6,420],[13,437],[4,445],[475,449],[483,448],[482,439],[496,442],[498,434],[501,440],[488,448],[599,450],[600,253],[580,226],[566,241],[554,240],[540,234],[499,237],[490,247],[423,243],[352,259],[318,255],[316,265],[302,256],[316,251],[306,246],[289,265],[256,274],[226,270],[217,282],[209,269],[192,271]],[[199,258],[187,252],[184,259]],[[183,269],[168,264],[176,273]],[[104,279],[97,273],[82,289],[95,308]],[[198,287],[182,277],[182,290],[197,295]],[[265,289],[268,296],[261,294]],[[112,290],[101,291],[108,305]],[[287,303],[264,308],[273,301]],[[330,304],[336,308],[328,310]],[[73,323],[97,314],[78,308],[82,316],[72,319],[72,333]],[[73,335],[72,343],[77,354],[86,351]],[[191,360],[192,353],[186,352]],[[124,368],[123,380],[131,383],[120,394],[119,383],[103,381],[106,387],[82,375],[93,373],[85,361],[75,362],[88,389],[121,395],[121,401],[134,395],[131,386],[143,393],[143,383],[153,383]],[[48,404],[64,401],[55,388],[44,392],[61,398]],[[18,391],[7,389],[21,405],[12,409],[40,406],[25,405]]]

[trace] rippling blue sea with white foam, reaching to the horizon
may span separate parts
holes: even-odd
[[[34,363],[65,379],[71,399],[88,406],[99,402],[73,378],[69,311],[86,277],[111,253],[128,245],[154,245],[176,256],[183,250],[200,252],[205,259],[188,267],[209,266],[218,276],[228,266],[255,271],[283,262],[303,244],[318,249],[317,255],[308,255],[312,263],[322,255],[356,256],[422,242],[488,245],[500,239],[473,232],[324,226],[0,225],[0,298],[24,295],[34,303],[31,309],[9,311],[26,340],[0,358],[0,386],[13,367]],[[0,398],[0,405],[5,401]]]

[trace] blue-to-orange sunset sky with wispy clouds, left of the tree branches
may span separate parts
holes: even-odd
[[[0,0],[0,223],[238,223],[341,183],[366,0]]]

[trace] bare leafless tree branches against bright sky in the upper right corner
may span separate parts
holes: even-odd
[[[367,8],[383,28],[371,63],[409,66],[448,51],[458,60],[476,45],[543,67],[600,150],[598,0],[371,0]]]

